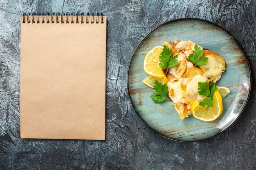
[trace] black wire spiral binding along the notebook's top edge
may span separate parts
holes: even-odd
[[[36,18],[36,23],[40,23],[40,21],[39,21],[39,16],[42,16],[42,23],[45,23],[45,17],[44,16],[46,16],[46,22],[47,23],[50,23],[50,21],[49,21],[49,17],[51,17],[51,22],[52,22],[52,24],[56,21],[56,23],[64,23],[65,21],[66,21],[66,23],[68,24],[69,22],[71,22],[72,24],[74,23],[74,20],[73,20],[73,16],[75,16],[75,14],[74,14],[74,12],[72,12],[71,13],[71,15],[70,15],[70,13],[59,13],[59,12],[57,12],[56,14],[53,12],[53,13],[47,13],[47,14],[45,14],[45,13],[42,13],[42,15],[41,15],[41,13],[23,13],[23,23],[26,23],[26,19],[25,19],[25,15],[27,15],[27,23],[30,23],[31,21],[30,21],[30,17],[29,16],[32,16],[32,23],[35,23],[35,18]],[[54,16],[55,16],[55,20],[54,20]],[[59,21],[58,19],[59,19],[59,17],[58,16],[61,16],[61,21]],[[65,17],[64,17],[65,16]],[[78,16],[79,16],[79,13],[76,13],[76,24],[78,24],[79,23],[79,19],[78,19]],[[83,24],[84,23],[84,21],[83,21],[83,16],[84,16],[84,13],[81,13],[81,23]],[[91,23],[91,24],[93,24],[95,21],[94,21],[94,13],[92,13],[92,19],[89,21],[89,13],[87,13],[86,14],[86,21],[85,21],[85,23],[86,24],[89,24],[89,22]],[[100,19],[101,19],[101,21],[100,21],[100,23],[101,24],[103,24],[104,22],[103,22],[103,13],[101,13],[101,15],[99,14],[99,13],[97,13],[97,15],[96,15],[96,24],[99,24],[99,17],[100,17]],[[64,20],[64,18],[65,18],[65,20]]]

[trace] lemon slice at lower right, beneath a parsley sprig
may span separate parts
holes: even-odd
[[[199,105],[198,101],[193,102],[191,112],[196,119],[202,121],[216,120],[222,113],[222,98],[218,89],[213,94],[213,106],[208,108]]]

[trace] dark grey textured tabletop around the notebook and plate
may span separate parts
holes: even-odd
[[[20,139],[23,12],[108,16],[106,141]],[[242,45],[252,71],[243,114],[206,141],[182,143],[158,135],[139,119],[127,92],[128,64],[137,44],[157,25],[177,18],[202,18],[227,29]],[[255,0],[0,0],[0,170],[255,170],[255,18]]]

